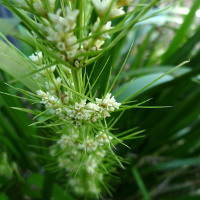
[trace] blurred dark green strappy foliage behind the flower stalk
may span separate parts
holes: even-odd
[[[151,10],[152,15],[159,9],[163,8]],[[24,34],[21,21],[3,7],[0,7],[0,17],[0,31],[29,56],[33,49],[9,36],[14,32]],[[114,71],[111,78],[115,78],[131,44],[126,67],[114,88],[115,94],[124,88],[117,96],[118,101],[128,99],[183,61],[189,62],[132,98],[138,102],[150,99],[146,107],[170,107],[131,109],[116,124],[116,132],[130,128],[145,132],[144,137],[127,143],[131,149],[117,148],[128,164],[126,170],[118,170],[119,181],[115,184],[113,197],[105,199],[199,200],[200,1],[179,1],[159,15],[138,23],[117,47],[107,53],[111,58],[98,80],[99,91],[104,91],[111,66]],[[4,84],[12,80],[13,72],[2,67],[2,49],[0,51],[0,68],[4,69],[0,71],[1,92],[22,95]],[[107,57],[99,62],[105,62]],[[12,61],[9,64],[13,64]],[[93,81],[99,70],[94,70]],[[14,85],[25,87],[22,83]],[[62,187],[62,182],[54,180],[55,174],[45,172],[48,161],[41,156],[45,157],[45,149],[34,148],[41,142],[44,146],[49,144],[34,137],[39,132],[43,134],[42,128],[29,126],[31,114],[10,108],[35,106],[0,94],[0,199],[73,199],[70,191]]]

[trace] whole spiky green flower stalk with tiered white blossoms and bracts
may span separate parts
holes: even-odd
[[[113,123],[107,119],[116,123],[119,118],[114,119],[112,114],[124,112],[130,106],[117,102],[111,93],[117,78],[109,90],[109,83],[105,83],[107,87],[101,96],[95,88],[100,75],[94,84],[92,73],[83,72],[82,68],[90,64],[94,69],[92,63],[116,46],[158,0],[136,13],[134,19],[134,11],[124,11],[131,0],[67,0],[60,4],[55,0],[3,2],[31,30],[28,42],[39,49],[28,58],[33,66],[31,78],[39,86],[29,94],[40,105],[36,123],[53,132],[49,155],[54,168],[65,175],[75,195],[98,199],[102,191],[110,192],[108,176],[116,173],[116,165],[123,168],[124,159],[113,149],[133,137],[114,135]],[[35,20],[25,11],[34,15]],[[86,21],[91,11],[94,19]],[[111,40],[114,33],[118,35]],[[102,72],[103,65],[98,67]]]

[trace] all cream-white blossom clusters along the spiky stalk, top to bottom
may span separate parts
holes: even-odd
[[[100,50],[106,39],[110,38],[109,30],[112,29],[110,20],[123,15],[125,13],[123,6],[132,2],[132,0],[92,0],[98,17],[93,26],[86,31],[84,37],[89,36],[89,38],[83,37],[81,42],[79,42],[76,34],[79,10],[66,7],[64,13],[61,9],[55,11],[55,0],[49,1],[51,12],[46,11],[42,0],[27,0],[30,4],[27,4],[25,0],[16,0],[16,2],[21,5],[21,8],[27,10],[31,5],[41,15],[42,20],[37,20],[36,23],[41,28],[39,32],[48,40],[47,45],[50,44],[48,49],[54,48],[62,60],[72,64],[75,68],[79,68],[81,61],[85,59],[84,53]],[[111,3],[112,7],[110,7]],[[102,19],[109,8],[108,18],[102,23]],[[36,37],[36,40],[38,38]],[[49,63],[49,60],[44,62],[45,57],[46,54],[36,52],[29,58],[40,69]],[[63,80],[58,77],[60,68],[66,75],[66,77],[61,76]],[[57,70],[57,75],[54,74],[55,70]],[[65,124],[62,127],[64,130],[62,130],[63,132],[56,144],[50,148],[50,154],[56,158],[60,169],[64,169],[69,175],[73,175],[69,176],[69,185],[74,192],[80,195],[99,194],[105,174],[103,173],[105,169],[102,169],[102,166],[109,162],[107,157],[115,138],[103,125],[103,128],[95,129],[95,131],[88,127],[93,127],[97,124],[97,121],[109,117],[111,112],[119,109],[121,103],[118,103],[111,93],[102,98],[90,100],[87,97],[84,98],[83,95],[78,96],[73,93],[72,71],[61,64],[44,69],[36,76],[36,78],[40,76],[46,78],[42,89],[36,91],[40,103],[44,104],[45,109],[48,110],[46,113],[55,116],[56,119],[61,119],[62,122],[67,122],[63,123]],[[70,89],[63,91],[62,83]],[[86,126],[88,123],[91,126]],[[82,127],[89,130],[86,129],[83,133]]]

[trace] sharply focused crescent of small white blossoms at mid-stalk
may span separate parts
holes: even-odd
[[[60,78],[55,80],[55,84],[58,87],[60,86],[60,82]],[[55,87],[54,85],[50,85],[48,89],[55,89]],[[87,100],[83,99],[80,102],[73,102],[72,104],[69,104],[67,93],[65,93],[64,98],[58,98],[49,92],[45,93],[42,90],[38,90],[37,95],[42,99],[40,103],[44,104],[46,109],[50,109],[51,113],[58,115],[63,120],[72,120],[77,125],[82,121],[93,123],[100,118],[109,117],[110,112],[119,109],[121,105],[121,103],[116,102],[111,93],[108,93],[103,99],[96,98],[94,103],[87,103]]]

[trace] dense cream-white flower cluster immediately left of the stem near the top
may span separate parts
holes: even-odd
[[[46,25],[41,25],[41,28],[46,32],[46,39],[56,45],[59,50],[59,56],[63,60],[73,60],[79,49],[79,44],[76,44],[77,37],[74,34],[76,20],[79,10],[71,10],[66,7],[66,16],[61,16],[61,9],[57,12],[49,13],[49,22]]]

